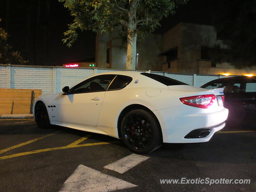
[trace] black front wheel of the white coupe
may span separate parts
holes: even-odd
[[[49,128],[50,120],[46,106],[42,102],[37,102],[35,106],[35,120],[39,128]]]

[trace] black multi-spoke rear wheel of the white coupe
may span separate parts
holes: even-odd
[[[157,120],[146,110],[128,112],[121,122],[120,131],[126,146],[136,153],[152,152],[162,144]]]

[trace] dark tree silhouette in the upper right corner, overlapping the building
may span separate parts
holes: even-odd
[[[256,0],[221,0],[218,6],[214,26],[218,39],[228,45],[220,60],[237,68],[256,66]]]

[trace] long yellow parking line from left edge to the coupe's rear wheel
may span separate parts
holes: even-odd
[[[119,142],[119,141],[86,143],[86,144],[73,145],[73,146],[68,145],[68,146],[63,146],[63,147],[39,149],[39,150],[34,150],[34,151],[28,151],[28,152],[22,152],[22,153],[2,156],[2,157],[0,157],[0,160],[10,159],[10,158],[19,157],[19,156],[25,156],[25,155],[29,155],[29,154],[41,153],[41,152],[46,152],[46,151],[53,151],[53,150],[59,150],[59,149],[68,149],[68,148],[76,148],[76,147],[84,147],[84,146],[104,145],[104,144],[117,143],[117,142]]]

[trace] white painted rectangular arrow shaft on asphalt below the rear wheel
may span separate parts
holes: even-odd
[[[142,156],[142,155],[131,154],[129,156],[126,156],[120,160],[117,160],[111,164],[104,166],[104,168],[110,169],[122,174],[128,171],[129,169],[133,168],[134,166],[140,164],[141,162],[146,161],[148,158],[149,157]]]

